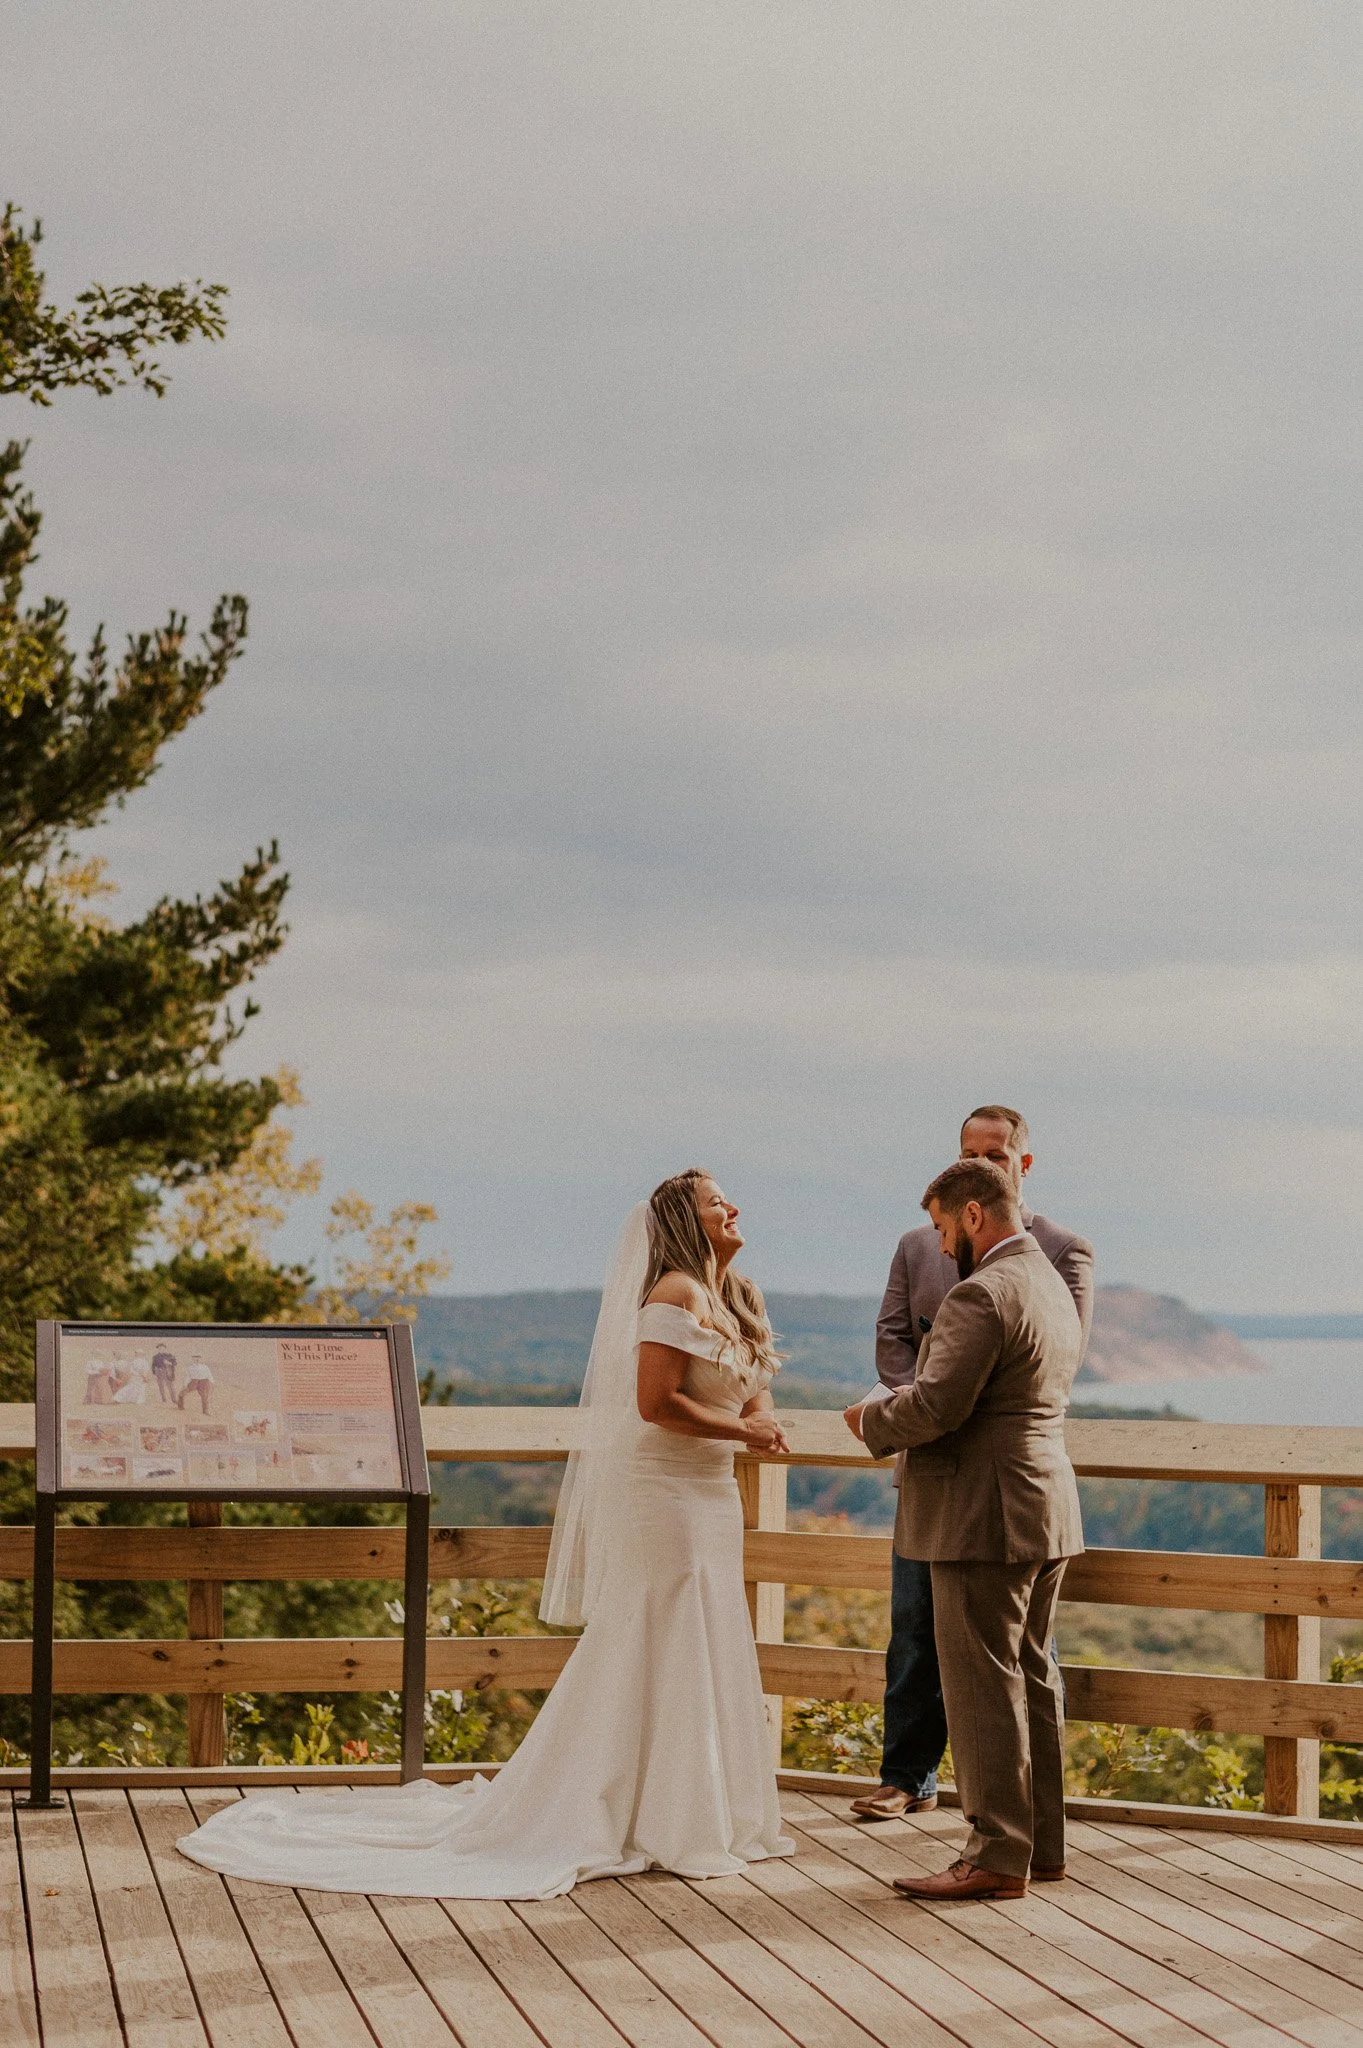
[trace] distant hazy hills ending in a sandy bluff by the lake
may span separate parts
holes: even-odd
[[[579,1386],[598,1292],[434,1294],[422,1305],[417,1358],[440,1380],[473,1386]],[[770,1294],[786,1380],[837,1389],[874,1378],[878,1294]],[[1085,1380],[1199,1378],[1263,1372],[1226,1329],[1171,1294],[1097,1290]]]

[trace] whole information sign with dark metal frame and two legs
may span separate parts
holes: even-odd
[[[39,1323],[35,1448],[29,1804],[53,1802],[61,1501],[405,1501],[401,1778],[422,1776],[430,1479],[407,1323]]]

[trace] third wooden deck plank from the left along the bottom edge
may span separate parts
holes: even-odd
[[[72,1796],[129,2048],[207,2048],[127,1792]]]

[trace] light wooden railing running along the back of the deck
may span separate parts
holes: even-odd
[[[432,1460],[553,1462],[571,1450],[575,1409],[426,1409]],[[784,1640],[786,1585],[884,1589],[882,1536],[786,1530],[790,1464],[868,1466],[841,1415],[782,1417],[790,1458],[739,1458],[745,1579],[770,1692],[774,1743],[780,1700],[878,1700],[878,1649],[817,1649]],[[1089,1550],[1074,1559],[1066,1599],[1142,1608],[1263,1614],[1265,1675],[1222,1677],[1066,1665],[1074,1720],[1224,1731],[1265,1739],[1265,1810],[1318,1817],[1320,1741],[1363,1743],[1363,1686],[1320,1683],[1320,1622],[1363,1620],[1363,1563],[1320,1561],[1320,1489],[1363,1487],[1363,1430],[1238,1423],[1070,1421],[1074,1468],[1091,1479],[1238,1481],[1265,1489],[1265,1554]],[[33,1456],[33,1409],[0,1407],[0,1458]],[[221,1761],[225,1692],[381,1692],[399,1681],[395,1638],[254,1640],[221,1634],[221,1585],[235,1579],[401,1581],[401,1530],[368,1528],[70,1528],[57,1536],[65,1579],[182,1579],[190,1585],[186,1640],[68,1640],[57,1645],[57,1692],[188,1694],[192,1761]],[[432,1579],[538,1579],[546,1528],[436,1528]],[[33,1569],[33,1532],[0,1528],[0,1577]],[[215,1620],[217,1618],[217,1620]],[[565,1636],[432,1638],[430,1683],[542,1688],[573,1653]],[[0,1692],[29,1690],[27,1642],[0,1642]],[[1361,1829],[1363,1833],[1363,1829]]]

